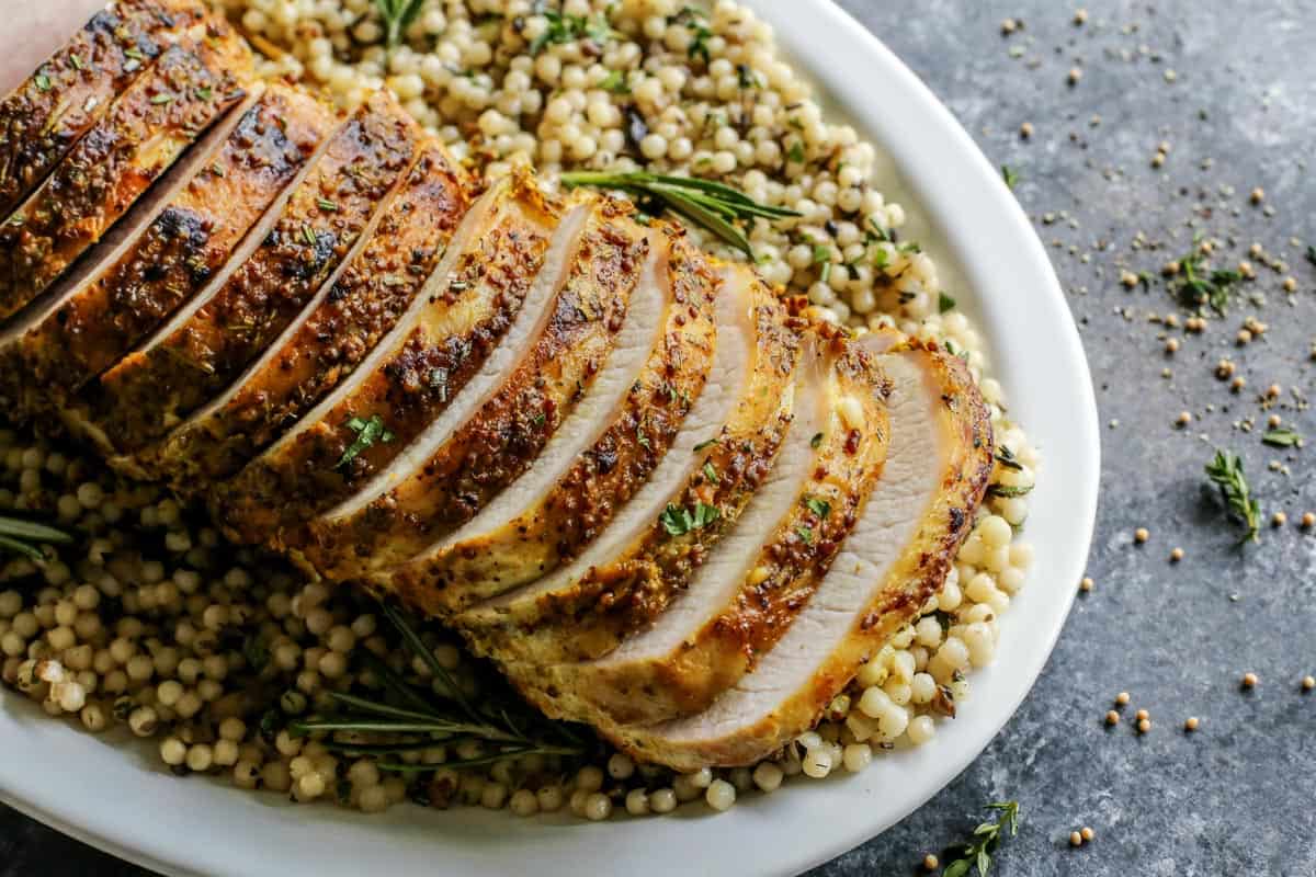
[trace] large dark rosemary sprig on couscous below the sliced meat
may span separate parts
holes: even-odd
[[[566,724],[534,715],[522,703],[511,698],[499,699],[491,696],[479,706],[472,703],[453,675],[425,646],[407,617],[387,604],[380,611],[397,631],[407,650],[429,669],[436,685],[428,689],[412,685],[383,660],[368,655],[367,667],[383,689],[383,697],[329,692],[338,711],[309,719],[295,719],[288,724],[290,734],[328,735],[322,740],[326,749],[350,756],[376,756],[379,769],[400,773],[436,770],[440,767],[476,767],[524,755],[580,756],[586,752],[584,740]],[[334,739],[340,732],[387,734],[407,739],[388,743]],[[467,742],[487,744],[492,751],[467,759],[450,759],[442,765],[409,764],[379,757]]]

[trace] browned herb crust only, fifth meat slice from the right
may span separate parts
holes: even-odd
[[[604,367],[647,252],[629,212],[600,200],[512,375],[405,481],[359,513],[312,523],[307,559],[336,580],[407,560],[522,475]]]

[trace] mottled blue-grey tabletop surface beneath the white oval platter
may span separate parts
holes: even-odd
[[[1316,242],[1305,164],[1316,145],[1316,3],[1091,3],[1082,28],[1076,7],[1053,0],[844,5],[932,85],[991,159],[1020,174],[1017,193],[1042,239],[1062,242],[1051,255],[1098,385],[1104,471],[1090,561],[1096,586],[1078,601],[1032,696],[946,790],[816,874],[916,873],[926,851],[967,835],[979,807],[1001,798],[1024,811],[992,869],[1003,877],[1316,874],[1316,694],[1299,692],[1302,676],[1316,673],[1316,534],[1294,523],[1316,510],[1316,447],[1265,447],[1269,412],[1258,401],[1280,384],[1283,404],[1273,410],[1316,435],[1316,417],[1296,410],[1304,405],[1291,394],[1311,392],[1316,372],[1316,266],[1302,255]],[[1007,39],[1000,22],[1009,16],[1025,28]],[[1070,87],[1074,66],[1083,78]],[[1019,137],[1025,121],[1036,129],[1030,141]],[[1161,141],[1171,150],[1154,170]],[[1258,185],[1263,206],[1248,200]],[[1191,245],[1190,221],[1225,242],[1230,258],[1217,267],[1253,242],[1284,259],[1296,295],[1280,289],[1287,273],[1254,259],[1258,279],[1245,300],[1205,333],[1149,322],[1170,313],[1169,295],[1158,283],[1130,292],[1120,271],[1155,273]],[[1140,231],[1145,242],[1136,245]],[[1246,316],[1270,331],[1236,348]],[[1183,344],[1174,356],[1162,352],[1166,331]],[[1249,381],[1238,394],[1213,376],[1227,355]],[[1196,419],[1175,429],[1184,409]],[[1261,429],[1234,426],[1246,417]],[[1242,552],[1202,489],[1213,444],[1244,454],[1267,519],[1279,509],[1290,517]],[[1291,473],[1269,469],[1273,460]],[[1152,531],[1140,548],[1138,526]],[[1174,546],[1186,551],[1177,565],[1167,561]],[[1032,586],[1044,584],[1073,585]],[[1261,677],[1248,693],[1238,686],[1245,671]],[[1107,730],[1101,717],[1120,690],[1133,703]],[[1141,738],[1130,721],[1138,707],[1154,722]],[[1188,715],[1202,719],[1194,735],[1180,730]],[[1083,824],[1096,840],[1070,849],[1069,832]],[[141,872],[0,810],[0,877],[84,873]]]

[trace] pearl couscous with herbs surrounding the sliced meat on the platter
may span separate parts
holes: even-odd
[[[390,49],[370,0],[218,5],[265,53],[266,74],[320,84],[342,105],[390,88],[486,178],[522,163],[550,181],[563,170],[653,170],[717,179],[797,212],[746,229],[759,272],[807,295],[819,318],[857,331],[896,326],[961,355],[991,405],[994,484],[921,618],[772,759],[687,774],[620,753],[445,767],[479,760],[478,742],[467,742],[409,748],[396,757],[411,769],[393,773],[370,753],[347,756],[287,730],[330,705],[332,692],[378,686],[379,661],[408,682],[437,684],[368,598],[226,544],[159,488],[0,430],[0,511],[39,510],[79,534],[45,561],[0,557],[4,682],[91,732],[125,726],[178,774],[363,813],[411,799],[521,817],[566,807],[601,820],[700,798],[721,811],[741,794],[862,772],[890,749],[934,739],[967,701],[970,672],[994,660],[1000,615],[1025,584],[1033,550],[1017,533],[1041,460],[1004,413],[983,337],[942,291],[932,258],[901,239],[904,209],[871,185],[874,147],[825,118],[778,55],[771,26],[728,0],[707,11],[565,0],[551,13],[530,0],[428,0]],[[478,699],[490,684],[482,668],[437,627],[421,639]]]

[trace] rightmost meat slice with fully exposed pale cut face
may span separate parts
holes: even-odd
[[[707,710],[604,728],[619,746],[676,769],[753,764],[811,727],[941,588],[991,475],[987,406],[963,363],[934,346],[907,342],[878,363],[890,381],[887,460],[808,605]]]

